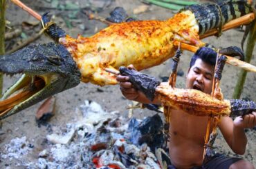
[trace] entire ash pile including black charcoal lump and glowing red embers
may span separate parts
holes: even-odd
[[[77,110],[80,120],[67,123],[65,132],[46,135],[46,149],[35,161],[23,158],[35,148],[26,137],[6,144],[0,161],[15,159],[16,166],[25,168],[157,169],[170,164],[159,115],[128,119],[102,110],[93,101],[85,101]]]

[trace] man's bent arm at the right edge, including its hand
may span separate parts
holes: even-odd
[[[247,137],[244,129],[254,126],[256,126],[256,112],[245,115],[243,118],[237,117],[234,121],[230,117],[222,117],[219,123],[219,129],[228,146],[238,155],[244,155],[246,150]]]

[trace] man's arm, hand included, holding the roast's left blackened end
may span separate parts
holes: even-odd
[[[128,66],[129,69],[134,69],[134,66],[130,65]],[[161,104],[161,102],[158,99],[154,99],[154,101],[150,101],[147,99],[147,97],[143,94],[143,92],[140,92],[134,88],[134,86],[129,82],[129,77],[118,75],[116,77],[116,80],[120,82],[120,90],[122,92],[122,95],[126,99],[138,101],[140,103],[154,103],[154,104]]]

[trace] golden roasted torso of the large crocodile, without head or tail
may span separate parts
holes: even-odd
[[[104,86],[117,81],[103,68],[133,64],[143,70],[159,65],[174,56],[174,41],[203,46],[198,31],[194,14],[186,10],[167,21],[118,23],[89,38],[73,39],[67,35],[59,41],[71,52],[82,81]]]

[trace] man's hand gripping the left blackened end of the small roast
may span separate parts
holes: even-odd
[[[133,65],[129,65],[127,68],[135,70]],[[132,86],[131,82],[129,82],[129,77],[118,75],[116,80],[120,82],[120,90],[126,99],[136,100],[139,97],[139,92]]]

